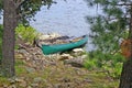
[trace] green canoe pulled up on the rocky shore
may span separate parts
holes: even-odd
[[[43,54],[48,55],[48,54],[65,52],[68,50],[79,47],[81,45],[85,45],[87,43],[87,41],[88,41],[88,36],[84,35],[84,36],[81,36],[80,40],[78,40],[76,42],[70,42],[70,43],[65,43],[65,44],[53,44],[53,45],[42,44],[41,48],[43,51]]]

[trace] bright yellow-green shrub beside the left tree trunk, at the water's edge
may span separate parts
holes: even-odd
[[[33,29],[32,26],[24,26],[22,24],[20,24],[16,29],[15,29],[15,33],[16,36],[21,36],[22,40],[24,42],[28,42],[30,44],[33,43],[34,38],[37,36],[37,32],[35,29]]]

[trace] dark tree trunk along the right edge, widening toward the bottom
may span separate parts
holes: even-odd
[[[130,8],[130,23],[129,23],[129,40],[131,40],[130,45],[130,56],[127,62],[123,63],[123,68],[120,78],[119,88],[132,88],[132,4]]]

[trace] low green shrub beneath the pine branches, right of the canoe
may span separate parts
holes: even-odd
[[[85,62],[85,67],[88,69],[105,70],[112,78],[119,78],[122,70],[124,58],[119,53],[111,55],[99,51],[90,52]]]

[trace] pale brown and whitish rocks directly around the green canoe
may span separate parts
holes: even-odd
[[[58,36],[61,37],[61,35],[56,33],[48,35],[41,34],[38,40],[52,40]],[[55,62],[57,61],[64,61],[65,64],[80,64],[80,66],[82,66],[84,59],[87,56],[82,55],[84,53],[85,51],[82,48],[74,48],[73,51],[70,51],[70,53],[68,52],[63,54],[57,53],[52,55],[44,55],[40,47],[23,43],[19,44],[19,50],[15,51],[15,56],[16,58],[25,59],[26,62],[33,62],[34,65],[32,66],[34,67],[38,67],[40,64],[43,66],[55,64]]]

